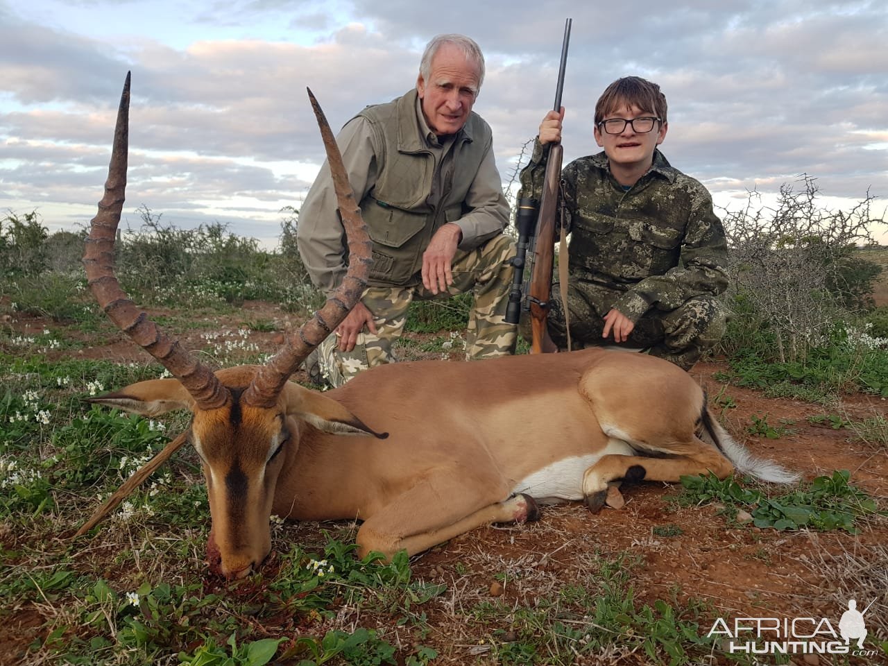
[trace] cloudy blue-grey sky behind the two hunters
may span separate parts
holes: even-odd
[[[607,83],[642,75],[669,101],[663,152],[718,204],[807,173],[831,208],[869,191],[884,210],[884,0],[0,0],[0,212],[88,222],[131,70],[125,221],[139,226],[146,205],[274,246],[281,207],[298,208],[322,160],[305,87],[337,129],[412,87],[445,32],[485,52],[475,110],[508,181],[552,105],[567,17],[567,160],[597,152]]]

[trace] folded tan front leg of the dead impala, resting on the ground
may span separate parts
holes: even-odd
[[[452,486],[452,480],[450,483]],[[534,499],[527,495],[511,496],[480,509],[478,503],[478,491],[472,488],[451,488],[447,496],[432,483],[411,488],[364,521],[357,535],[358,554],[364,557],[379,551],[391,559],[406,550],[415,555],[475,527],[539,517]]]

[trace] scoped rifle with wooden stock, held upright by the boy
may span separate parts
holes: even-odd
[[[571,20],[567,19],[564,26],[564,42],[561,44],[561,65],[558,73],[558,88],[555,91],[555,111],[561,110],[561,91],[564,89],[564,71],[567,65],[567,43],[570,41]],[[559,143],[547,146],[549,151],[546,162],[543,194],[539,200],[519,199],[518,212],[515,215],[515,226],[518,227],[518,250],[511,265],[512,274],[509,305],[506,309],[505,321],[517,324],[522,305],[530,309],[530,326],[533,333],[533,344],[530,353],[555,352],[558,347],[549,337],[546,322],[549,318],[549,297],[552,281],[552,265],[554,263],[555,229],[558,216],[559,183],[561,181],[561,162],[564,149]],[[537,210],[539,213],[537,214]],[[531,250],[531,275],[527,298],[524,284],[524,266],[527,250]]]

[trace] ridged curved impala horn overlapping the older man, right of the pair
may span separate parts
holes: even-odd
[[[345,274],[342,284],[327,299],[323,307],[314,313],[314,316],[294,334],[287,337],[281,350],[258,370],[252,384],[243,395],[243,400],[254,407],[272,407],[289,376],[296,371],[302,361],[305,361],[305,357],[312,353],[312,350],[320,345],[323,339],[329,336],[333,329],[336,329],[345,319],[345,315],[361,299],[361,295],[367,287],[367,276],[372,263],[367,226],[364,225],[361,210],[354,201],[352,186],[348,182],[348,175],[345,173],[345,165],[342,163],[342,155],[339,153],[336,139],[333,138],[327,118],[324,117],[324,112],[321,111],[318,100],[314,99],[311,90],[308,91],[308,97],[312,100],[314,115],[321,128],[321,138],[324,141],[324,148],[327,150],[327,162],[333,176],[339,216],[342,218],[345,235],[348,239],[348,273]]]

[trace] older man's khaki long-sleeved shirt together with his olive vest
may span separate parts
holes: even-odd
[[[491,131],[479,115],[472,113],[462,131],[441,142],[412,90],[354,116],[337,145],[374,242],[371,285],[418,283],[422,253],[446,222],[460,227],[464,251],[502,234],[509,223]],[[331,293],[345,275],[346,252],[326,162],[299,209],[297,242],[313,283]]]

